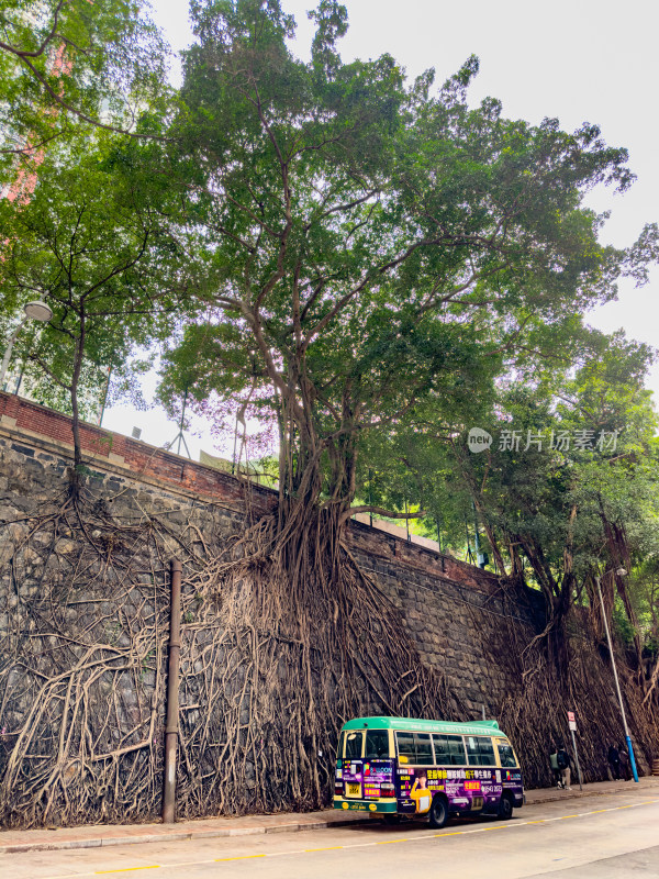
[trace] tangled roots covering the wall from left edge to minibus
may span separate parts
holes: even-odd
[[[187,516],[178,532],[143,509],[121,524],[82,492],[5,526],[5,826],[159,814],[172,555],[186,572],[179,815],[325,804],[348,717],[459,716],[331,513],[302,530],[265,518],[241,539],[208,510]]]

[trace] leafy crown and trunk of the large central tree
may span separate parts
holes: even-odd
[[[335,533],[360,436],[429,396],[478,394],[520,353],[541,360],[621,274],[643,272],[654,231],[630,252],[600,245],[582,197],[626,189],[625,151],[593,125],[470,109],[474,58],[433,94],[432,71],[407,87],[388,55],[344,64],[346,12],[330,0],[309,64],[276,0],[198,2],[192,18],[180,222],[205,236],[199,322],[210,309],[223,353],[203,356],[191,332],[180,391],[194,375],[203,393],[267,389],[279,533]]]

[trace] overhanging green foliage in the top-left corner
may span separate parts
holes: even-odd
[[[158,134],[167,48],[142,0],[7,0],[0,11],[0,181],[36,170],[81,123]],[[19,166],[16,166],[19,160]]]

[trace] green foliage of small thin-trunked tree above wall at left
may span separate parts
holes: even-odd
[[[139,165],[148,149],[109,135],[63,142],[30,201],[0,202],[4,327],[31,299],[53,311],[14,356],[41,402],[76,416],[96,414],[108,369],[126,376],[131,352],[167,332],[175,305],[180,314],[183,254],[157,213],[164,178]]]

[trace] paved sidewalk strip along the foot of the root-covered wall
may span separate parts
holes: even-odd
[[[535,805],[556,800],[571,800],[593,794],[624,793],[644,790],[659,794],[659,777],[646,776],[638,785],[633,781],[599,781],[584,785],[579,790],[543,788],[526,791],[526,804]],[[276,815],[245,815],[244,817],[210,817],[198,821],[178,821],[176,824],[91,824],[59,830],[0,831],[0,854],[12,852],[38,852],[66,848],[93,848],[108,845],[174,842],[178,839],[202,839],[219,836],[250,836],[260,833],[291,833],[293,831],[322,830],[369,821],[367,814],[354,814],[327,809],[322,812]]]

